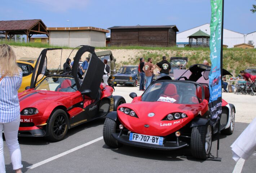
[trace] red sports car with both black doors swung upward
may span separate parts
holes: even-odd
[[[104,64],[93,47],[83,46],[78,50],[72,71],[45,77],[49,50],[53,49],[41,52],[30,87],[18,94],[21,108],[18,136],[46,136],[59,141],[68,129],[103,117],[125,103],[123,97],[112,96],[112,87],[101,83]],[[92,53],[92,57],[84,78],[80,79],[78,65],[85,52]],[[39,78],[44,79],[36,85]]]

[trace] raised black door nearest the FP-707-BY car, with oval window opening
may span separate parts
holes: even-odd
[[[90,58],[85,76],[81,81],[78,76],[78,65],[80,57],[85,52],[91,53],[92,56]],[[81,92],[81,94],[86,95],[91,99],[96,99],[97,94],[99,92],[104,67],[104,63],[95,54],[94,47],[83,46],[78,50],[74,59],[71,74],[72,76],[74,76],[76,86],[78,90]]]

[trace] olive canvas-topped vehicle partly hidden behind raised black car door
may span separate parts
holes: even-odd
[[[108,84],[112,84],[111,82],[111,77],[116,74],[116,67],[115,67],[115,61],[116,59],[114,58],[111,50],[104,50],[104,51],[101,51],[101,52],[95,52],[96,55],[101,59],[102,62],[104,62],[104,59],[107,60],[107,65],[109,65],[110,67],[110,77],[109,79],[107,80],[107,83]],[[90,53],[89,55],[89,58],[92,56],[92,54]]]

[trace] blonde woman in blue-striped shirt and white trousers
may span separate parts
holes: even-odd
[[[13,170],[21,173],[21,150],[18,142],[20,108],[18,89],[21,86],[22,71],[16,63],[12,48],[0,45],[0,173],[5,173],[4,142],[12,159]]]

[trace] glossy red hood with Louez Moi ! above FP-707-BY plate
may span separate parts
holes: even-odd
[[[119,111],[120,107],[127,107],[135,111],[138,118]],[[184,127],[198,114],[202,115],[201,111],[207,109],[207,101],[193,105],[136,101],[133,103],[122,104],[118,107],[117,112],[120,122],[131,132],[151,136],[167,136]],[[163,120],[168,114],[174,112],[185,113],[187,117],[171,121]],[[155,115],[153,117],[149,117],[149,113],[154,113]],[[149,125],[149,127],[145,127],[144,125]]]

